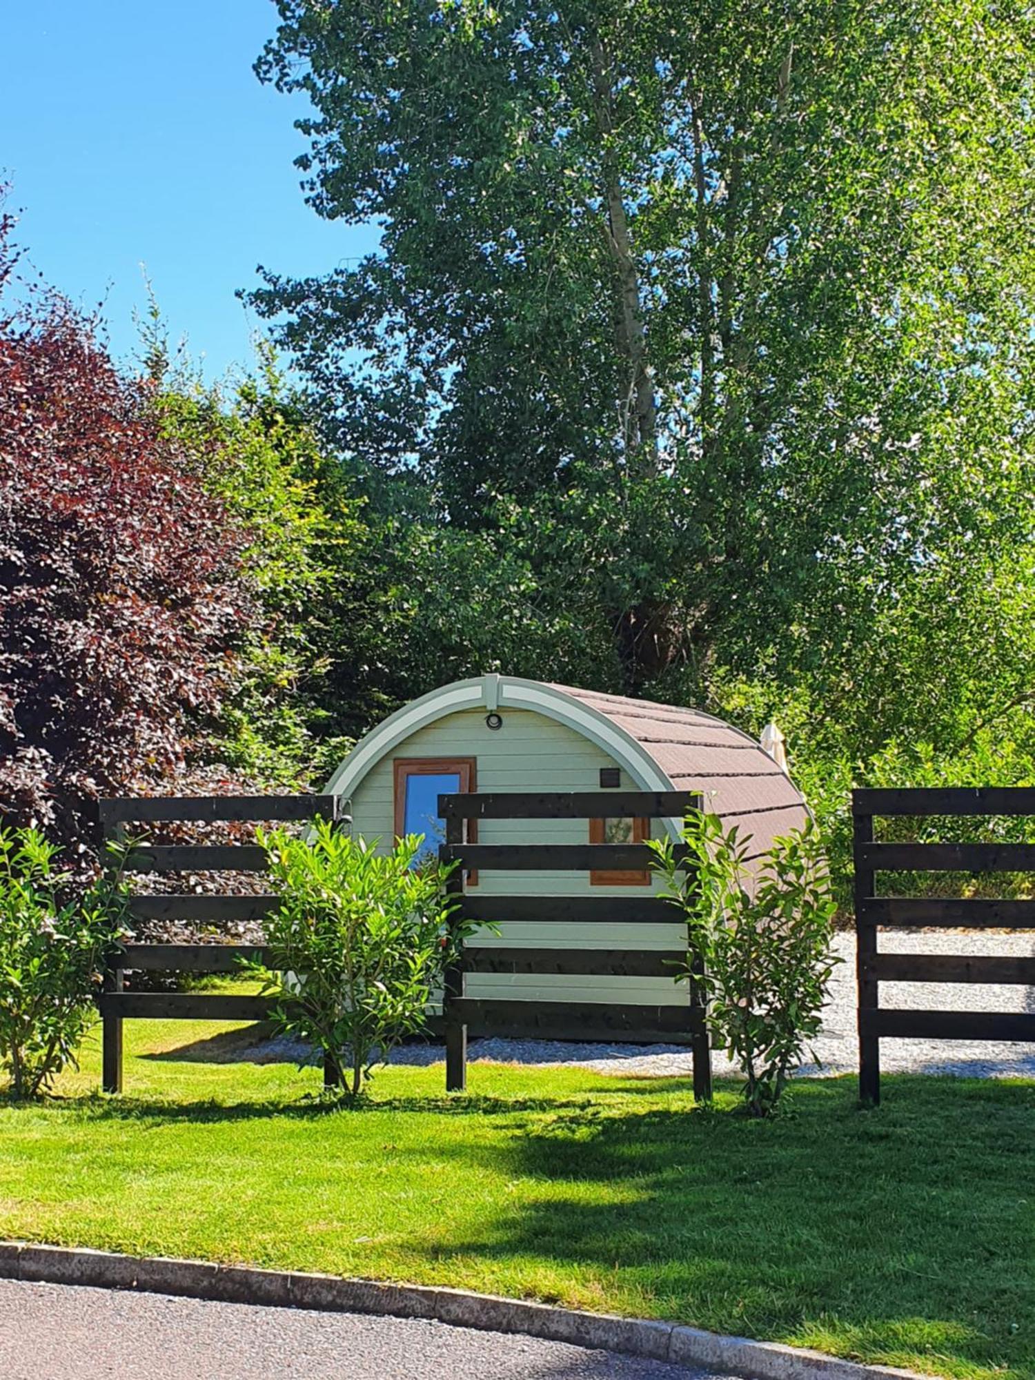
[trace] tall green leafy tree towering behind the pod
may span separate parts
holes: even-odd
[[[602,680],[843,672],[1027,546],[1021,0],[277,10],[309,201],[384,237],[253,298],[357,464],[562,560]]]

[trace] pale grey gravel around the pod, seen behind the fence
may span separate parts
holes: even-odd
[[[900,954],[1035,955],[1035,934],[886,930],[880,934],[880,947],[885,952]],[[835,952],[842,962],[834,970],[822,1034],[813,1046],[816,1060],[810,1060],[799,1070],[803,1078],[854,1074],[858,1068],[856,936],[839,933],[835,937]],[[962,983],[882,983],[880,1005],[938,1010],[1035,1012],[1035,988]],[[269,1041],[254,1053],[262,1061],[297,1058],[299,1047],[287,1041]],[[443,1058],[442,1045],[407,1045],[392,1054],[392,1063],[396,1064],[436,1064]],[[495,1064],[573,1064],[622,1078],[629,1075],[682,1078],[689,1076],[693,1068],[689,1050],[678,1045],[578,1045],[566,1041],[476,1039],[468,1046],[468,1058],[472,1063]],[[880,1065],[889,1074],[1035,1078],[1035,1045],[887,1039],[880,1042]],[[713,1068],[718,1076],[736,1071],[718,1050],[713,1054]]]

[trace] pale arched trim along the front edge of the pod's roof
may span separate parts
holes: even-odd
[[[487,675],[471,680],[454,680],[396,709],[384,723],[360,738],[323,788],[323,793],[348,799],[370,769],[413,733],[460,709],[482,708],[487,712],[530,709],[555,719],[607,752],[640,791],[678,789],[646,748],[599,709],[540,680]],[[530,782],[529,789],[534,788],[534,782]],[[665,825],[673,838],[678,836],[676,820],[665,820]]]

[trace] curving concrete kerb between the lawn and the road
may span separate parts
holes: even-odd
[[[745,1380],[930,1380],[911,1370],[839,1361],[820,1351],[774,1341],[724,1337],[679,1323],[577,1312],[551,1304],[426,1285],[379,1283],[22,1242],[0,1242],[0,1278],[139,1289],[219,1303],[425,1318],[482,1332],[522,1333],[546,1341],[567,1341],[592,1350],[733,1373]]]

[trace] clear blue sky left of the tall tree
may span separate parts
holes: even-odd
[[[208,378],[247,363],[235,290],[257,264],[322,273],[377,244],[302,201],[297,98],[251,63],[270,0],[21,0],[4,6],[0,178],[32,266],[73,301],[103,301],[112,349],[137,348],[146,270],[174,339]]]

